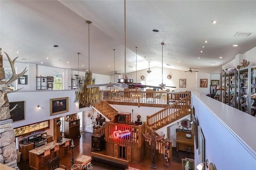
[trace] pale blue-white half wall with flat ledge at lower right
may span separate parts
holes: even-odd
[[[192,92],[192,104],[205,139],[205,160],[217,170],[254,170],[256,135],[251,134],[255,134],[256,118],[198,92]],[[194,150],[198,165],[196,145]]]

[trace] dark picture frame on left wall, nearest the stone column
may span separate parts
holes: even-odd
[[[12,122],[25,120],[25,101],[10,102],[9,108],[12,109],[13,107],[15,108],[10,111]]]

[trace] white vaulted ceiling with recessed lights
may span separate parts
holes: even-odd
[[[256,46],[255,9],[256,1],[127,0],[126,72],[136,71],[136,47],[137,70],[148,68],[148,62],[150,67],[162,66],[161,42],[164,67],[220,72],[235,55]],[[79,69],[86,70],[86,20],[92,21],[90,70],[107,75],[113,72],[116,49],[115,70],[124,73],[123,0],[0,0],[0,47],[12,59],[18,56],[17,62],[69,66],[72,70],[78,70],[80,52]],[[252,34],[234,37],[237,32]],[[232,47],[234,44],[239,46]]]

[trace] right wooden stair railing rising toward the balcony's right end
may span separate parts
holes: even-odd
[[[190,109],[190,95],[178,100],[170,106],[147,116],[146,124],[154,129],[158,130],[186,115],[189,114]]]

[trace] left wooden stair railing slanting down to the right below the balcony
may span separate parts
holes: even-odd
[[[116,115],[116,113],[118,113],[118,111],[116,109],[114,109],[112,106],[110,106],[105,101],[95,104],[93,107],[95,109],[97,109],[106,118],[108,118],[110,121],[114,120],[114,115]]]

